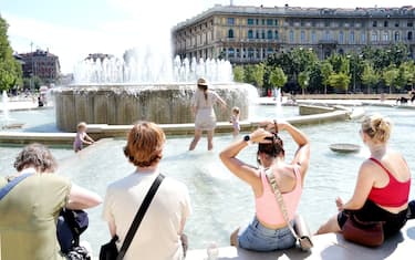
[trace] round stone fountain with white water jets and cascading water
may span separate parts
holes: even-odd
[[[154,69],[137,53],[121,61],[115,58],[83,61],[74,70],[75,83],[54,90],[56,126],[73,132],[79,122],[128,125],[138,119],[158,124],[194,123],[191,98],[199,76],[206,77],[228,107],[239,106],[241,119],[248,118],[249,84],[232,82],[231,64],[222,60],[176,56],[172,66]],[[157,63],[159,64],[159,63]],[[172,71],[167,73],[168,69]],[[163,75],[166,74],[165,77]],[[256,95],[258,95],[256,93]],[[228,122],[229,112],[217,112],[217,119]]]

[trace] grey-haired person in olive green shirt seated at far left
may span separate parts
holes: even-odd
[[[0,259],[66,259],[56,238],[60,211],[63,207],[86,209],[101,204],[97,194],[53,174],[56,167],[45,146],[30,144],[14,160],[18,173],[0,178],[2,189],[27,176],[0,199]]]

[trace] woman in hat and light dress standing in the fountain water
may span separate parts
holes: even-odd
[[[195,149],[203,131],[207,131],[208,150],[214,148],[214,133],[216,128],[215,103],[219,103],[224,110],[227,106],[217,93],[208,90],[207,81],[200,77],[197,81],[197,90],[191,106],[195,115],[195,137],[190,143],[189,150]]]

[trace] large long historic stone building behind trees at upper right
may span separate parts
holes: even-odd
[[[415,8],[297,8],[215,6],[173,28],[174,54],[257,63],[293,48],[320,59],[402,42],[415,52]]]

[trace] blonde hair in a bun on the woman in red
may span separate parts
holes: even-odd
[[[363,119],[362,131],[375,143],[386,143],[391,136],[392,123],[380,114],[370,115]]]

